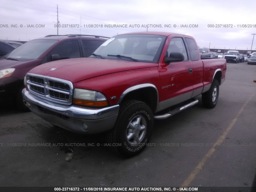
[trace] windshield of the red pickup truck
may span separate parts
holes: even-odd
[[[104,42],[93,56],[106,59],[158,62],[166,36],[127,34],[114,36]],[[97,58],[97,57],[96,57]]]

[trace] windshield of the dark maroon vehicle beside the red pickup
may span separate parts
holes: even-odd
[[[31,40],[22,46],[14,49],[6,56],[6,59],[12,58],[20,61],[38,59],[50,46],[57,40]]]

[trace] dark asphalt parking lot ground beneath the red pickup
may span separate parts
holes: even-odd
[[[254,79],[256,65],[228,63],[214,109],[199,102],[155,121],[152,146],[128,159],[113,154],[102,134],[75,134],[32,112],[2,106],[0,186],[252,186],[256,173]]]

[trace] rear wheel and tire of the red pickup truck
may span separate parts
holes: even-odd
[[[214,79],[210,90],[202,94],[202,103],[206,108],[214,108],[219,98],[219,82]]]

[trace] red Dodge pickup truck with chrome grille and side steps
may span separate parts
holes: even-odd
[[[204,59],[204,60],[203,60]],[[200,58],[191,36],[139,32],[114,36],[90,58],[58,60],[26,74],[24,102],[46,121],[72,132],[106,132],[123,156],[141,152],[154,119],[198,103],[214,108],[226,60]]]

